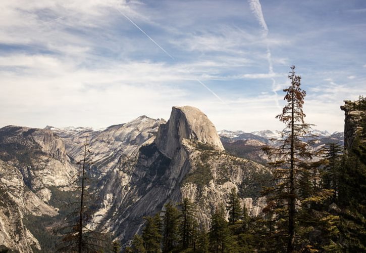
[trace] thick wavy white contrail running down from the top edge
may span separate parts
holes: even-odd
[[[256,19],[258,20],[259,25],[262,26],[263,37],[267,44],[268,73],[273,74],[274,71],[273,71],[273,63],[272,63],[272,54],[271,54],[271,49],[270,49],[268,39],[267,39],[269,30],[268,30],[268,26],[267,26],[265,17],[263,15],[262,5],[260,5],[259,0],[248,0],[248,3],[250,5],[250,10],[253,12]],[[276,80],[274,78],[271,78],[271,79],[272,79],[272,92],[276,95],[276,98],[275,98],[276,107],[281,110],[281,107],[280,107],[278,99],[277,99],[278,94],[276,91]]]

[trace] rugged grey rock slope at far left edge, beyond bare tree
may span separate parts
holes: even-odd
[[[12,250],[40,249],[25,216],[56,216],[48,204],[51,187],[69,189],[76,167],[63,141],[49,130],[6,126],[0,129],[0,242]]]

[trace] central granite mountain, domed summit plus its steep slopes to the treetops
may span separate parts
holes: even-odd
[[[253,200],[261,202],[256,181],[269,176],[264,166],[226,154],[213,123],[189,106],[173,107],[155,140],[139,149],[137,159],[122,163],[104,177],[94,219],[124,242],[140,231],[143,216],[183,196],[197,203],[197,217],[205,226],[232,187],[256,215],[260,206]]]

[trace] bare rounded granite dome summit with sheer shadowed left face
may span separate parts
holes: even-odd
[[[192,106],[173,106],[168,122],[160,126],[155,144],[162,153],[171,158],[182,146],[183,139],[224,150],[215,125],[202,111]]]

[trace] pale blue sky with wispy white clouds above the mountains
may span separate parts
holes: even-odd
[[[218,130],[282,130],[290,66],[306,122],[343,131],[366,95],[364,0],[0,2],[0,127],[89,126],[199,108]]]

